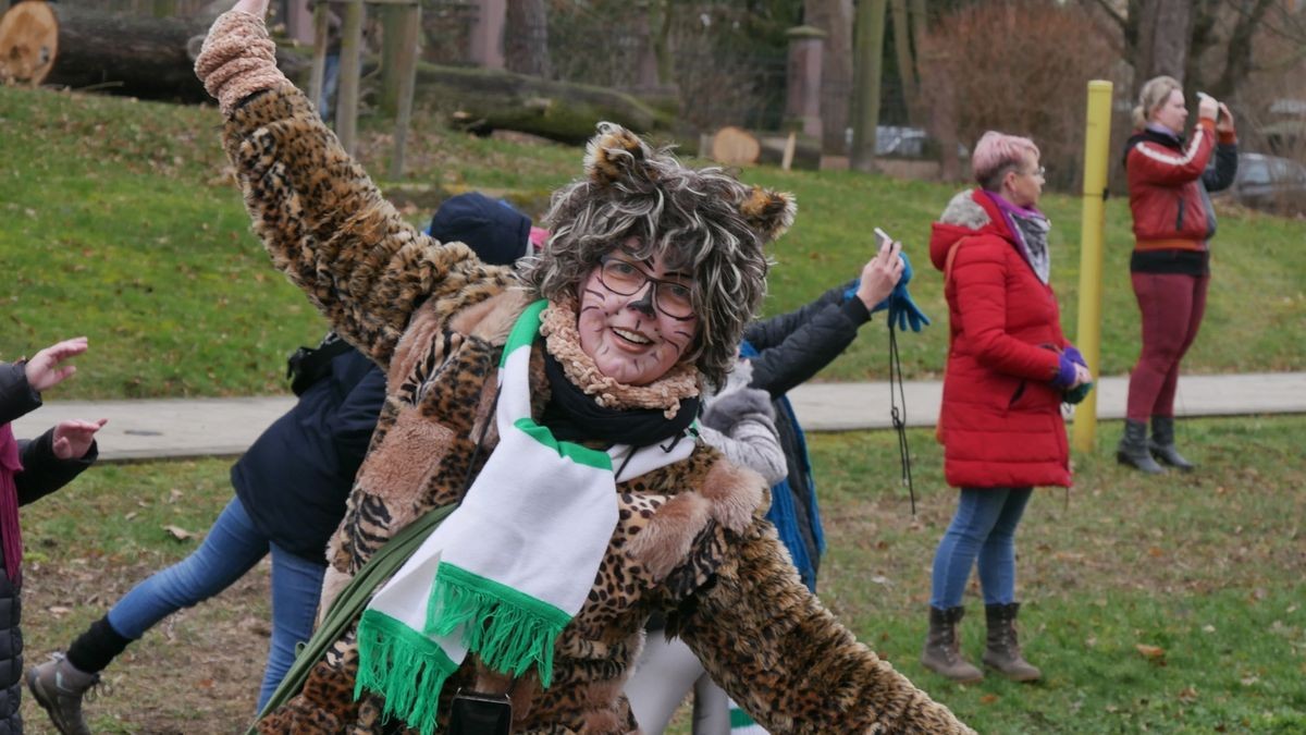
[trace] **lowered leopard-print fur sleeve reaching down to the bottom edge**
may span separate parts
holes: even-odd
[[[767,731],[973,732],[835,620],[769,524],[730,536],[679,633]]]

